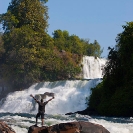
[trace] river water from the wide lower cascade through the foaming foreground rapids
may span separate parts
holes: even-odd
[[[27,133],[28,128],[35,124],[37,105],[30,94],[45,92],[55,94],[55,99],[46,105],[45,125],[50,126],[61,122],[89,121],[104,126],[110,133],[133,133],[133,118],[116,118],[87,115],[65,115],[86,109],[91,88],[101,79],[70,80],[37,83],[22,91],[10,93],[0,101],[0,119],[5,120],[16,133]],[[46,97],[48,100],[51,97]],[[41,126],[41,121],[38,121]]]

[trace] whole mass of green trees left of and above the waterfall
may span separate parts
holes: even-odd
[[[0,84],[14,90],[35,82],[77,78],[83,55],[100,57],[95,40],[55,30],[47,33],[47,0],[12,0],[0,14]]]

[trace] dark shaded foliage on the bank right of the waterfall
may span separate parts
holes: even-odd
[[[133,116],[133,22],[123,26],[109,48],[103,82],[92,89],[89,108],[100,115]]]

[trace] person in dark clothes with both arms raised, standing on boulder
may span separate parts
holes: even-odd
[[[38,117],[41,116],[41,121],[42,121],[42,126],[44,124],[44,114],[45,114],[45,105],[51,101],[52,99],[54,99],[54,97],[52,97],[51,99],[49,99],[48,101],[46,102],[43,102],[43,99],[41,99],[41,102],[38,101],[35,97],[33,97],[33,95],[31,94],[30,95],[37,103],[38,103],[38,113],[36,115],[36,126],[37,126],[37,120],[38,120]]]

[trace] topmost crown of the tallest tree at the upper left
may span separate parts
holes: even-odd
[[[12,0],[7,13],[1,14],[0,20],[5,32],[28,25],[34,31],[47,30],[47,6],[44,0]]]

